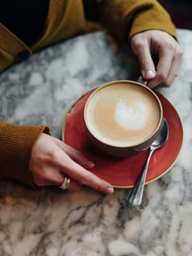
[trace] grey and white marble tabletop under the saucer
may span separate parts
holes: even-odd
[[[122,205],[130,189],[70,193],[1,180],[0,255],[192,255],[192,31],[177,33],[184,49],[179,76],[159,89],[184,125],[184,145],[171,170],[145,186],[142,204],[133,209]],[[77,36],[1,74],[1,120],[47,124],[61,138],[63,116],[74,100],[98,84],[138,74],[136,57],[110,36]]]

